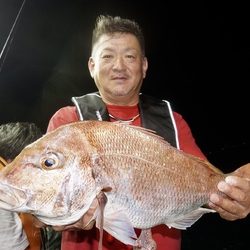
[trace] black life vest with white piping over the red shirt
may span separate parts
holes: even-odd
[[[109,121],[105,103],[98,92],[72,97],[81,121]],[[144,94],[139,95],[142,127],[155,131],[172,146],[179,148],[176,124],[170,103]]]

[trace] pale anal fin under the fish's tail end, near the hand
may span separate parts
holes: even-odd
[[[175,220],[172,223],[166,223],[166,225],[171,228],[178,228],[178,229],[186,229],[190,226],[192,226],[197,220],[200,219],[200,217],[203,214],[206,213],[214,213],[215,211],[212,209],[208,209],[208,208],[198,208],[194,211],[192,211],[189,214],[185,214],[182,217],[178,218],[177,220]]]

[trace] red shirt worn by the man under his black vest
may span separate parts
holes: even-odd
[[[174,119],[178,131],[178,139],[180,149],[186,153],[205,158],[199,147],[196,145],[191,130],[182,118],[182,116],[174,112]],[[77,110],[75,106],[68,106],[59,109],[50,119],[47,132],[57,127],[78,121]],[[160,225],[152,229],[153,238],[157,243],[157,250],[180,250],[181,249],[181,231],[177,229],[169,229],[165,225]],[[93,228],[89,231],[64,231],[62,233],[61,250],[97,250],[98,249],[98,229]],[[103,250],[127,250],[132,249],[112,236],[104,232]]]

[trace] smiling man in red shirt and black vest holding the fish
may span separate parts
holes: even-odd
[[[205,158],[195,143],[191,130],[170,103],[140,94],[146,77],[148,61],[144,37],[139,25],[120,17],[99,16],[92,36],[92,53],[88,67],[99,90],[98,93],[73,97],[75,106],[58,110],[51,118],[48,131],[78,120],[123,121],[155,130],[173,146]],[[249,165],[250,169],[250,165]],[[250,170],[249,170],[250,172]],[[231,177],[218,185],[227,196],[211,195],[209,206],[227,220],[244,218],[250,211],[250,174],[244,178]],[[97,202],[74,227],[84,228]],[[84,229],[90,229],[93,224]],[[68,227],[55,227],[57,230]],[[179,250],[181,233],[164,225],[153,228],[157,249]],[[64,231],[62,249],[97,249],[98,232]],[[131,249],[104,235],[103,249]]]

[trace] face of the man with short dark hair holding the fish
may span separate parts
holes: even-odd
[[[138,97],[148,64],[134,35],[115,33],[100,37],[88,66],[104,101],[112,104]]]

